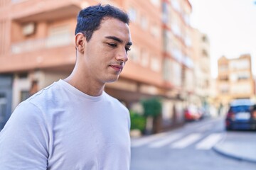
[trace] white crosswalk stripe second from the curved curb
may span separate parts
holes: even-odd
[[[183,138],[182,140],[174,142],[174,144],[171,145],[171,148],[182,149],[184,147],[187,147],[188,145],[191,145],[193,142],[196,142],[196,140],[201,138],[201,136],[202,135],[200,133],[193,133]]]

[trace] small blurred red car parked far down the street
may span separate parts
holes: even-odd
[[[201,109],[199,109],[197,106],[188,106],[188,108],[184,111],[185,120],[191,121],[191,120],[200,120],[203,116],[203,113]]]

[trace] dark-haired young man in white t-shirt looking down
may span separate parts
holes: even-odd
[[[129,112],[104,91],[127,62],[128,23],[114,6],[80,11],[75,68],[16,108],[0,133],[1,170],[129,169]]]

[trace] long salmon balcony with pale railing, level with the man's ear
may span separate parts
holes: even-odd
[[[70,72],[75,64],[74,35],[26,40],[11,45],[10,55],[0,57],[0,72],[54,69]]]

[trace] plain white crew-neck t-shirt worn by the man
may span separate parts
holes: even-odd
[[[129,111],[60,80],[19,104],[0,132],[0,169],[128,170]]]

